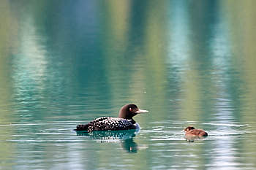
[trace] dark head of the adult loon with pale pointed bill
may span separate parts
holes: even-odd
[[[118,117],[132,120],[132,117],[134,117],[135,115],[146,112],[148,111],[144,109],[139,109],[135,104],[126,104],[119,110]]]

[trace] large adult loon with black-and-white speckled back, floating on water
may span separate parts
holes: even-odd
[[[99,117],[86,125],[77,125],[75,131],[119,131],[136,129],[137,124],[132,119],[137,114],[148,112],[138,109],[135,104],[126,104],[119,110],[118,117]]]

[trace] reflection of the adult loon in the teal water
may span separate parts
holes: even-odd
[[[127,152],[137,152],[138,144],[133,138],[138,134],[138,130],[126,131],[77,131],[78,136],[89,136],[91,139],[97,140],[100,143],[115,143],[121,142],[121,147]]]

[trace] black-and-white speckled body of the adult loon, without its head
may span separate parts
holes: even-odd
[[[76,131],[120,131],[135,129],[138,125],[118,117],[99,117],[86,125],[78,125]]]

